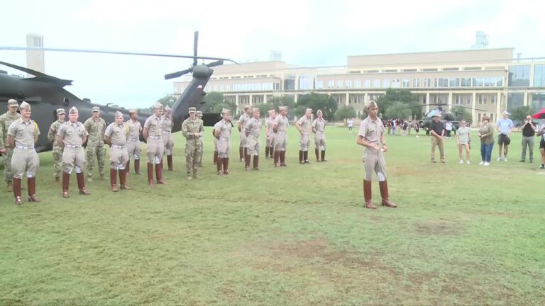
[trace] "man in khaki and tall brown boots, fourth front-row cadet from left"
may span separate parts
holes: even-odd
[[[165,152],[165,145],[163,144],[163,118],[161,117],[161,111],[163,111],[163,105],[159,102],[155,102],[153,106],[155,113],[150,115],[144,123],[144,140],[148,143],[146,154],[148,155],[148,183],[153,186],[153,164],[155,164],[155,179],[158,184],[163,184],[163,167],[161,166],[161,159],[163,159],[163,152]]]

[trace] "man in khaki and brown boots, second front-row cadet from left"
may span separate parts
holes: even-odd
[[[87,130],[83,123],[80,123],[77,108],[72,107],[68,111],[69,121],[63,123],[57,132],[57,144],[62,147],[62,198],[68,198],[68,186],[70,174],[76,169],[77,188],[79,194],[89,195],[85,189],[83,177],[83,166],[85,164],[85,152],[83,144],[87,141]]]

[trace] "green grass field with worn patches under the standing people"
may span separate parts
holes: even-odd
[[[534,164],[518,162],[518,134],[510,162],[495,146],[483,167],[475,131],[471,165],[454,138],[431,164],[429,137],[388,137],[399,208],[367,210],[356,131],[330,128],[330,162],[299,165],[290,128],[288,167],[262,156],[260,171],[237,162],[235,132],[232,174],[216,176],[209,129],[202,179],[185,179],[177,133],[175,171],[155,188],[144,172],[131,191],[95,180],[85,197],[72,177],[62,199],[40,154],[42,203],[0,191],[0,305],[545,304],[539,142]]]

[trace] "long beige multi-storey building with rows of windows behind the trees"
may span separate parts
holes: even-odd
[[[237,106],[267,103],[273,96],[297,101],[316,92],[363,115],[365,102],[386,89],[409,89],[422,104],[446,103],[446,112],[468,106],[474,108],[469,110],[474,122],[484,114],[495,121],[518,106],[545,107],[545,58],[513,59],[513,52],[502,48],[350,56],[345,67],[297,67],[280,61],[227,64],[214,68],[206,90],[223,93]],[[175,82],[175,94],[188,84],[189,79]]]

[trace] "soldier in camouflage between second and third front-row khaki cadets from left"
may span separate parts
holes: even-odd
[[[106,149],[104,149],[104,131],[106,130],[106,121],[100,118],[100,108],[94,106],[91,118],[85,120],[83,124],[89,133],[87,140],[87,157],[85,172],[87,172],[87,181],[93,181],[94,158],[97,157],[99,165],[100,179],[104,179],[104,159],[106,159]]]

